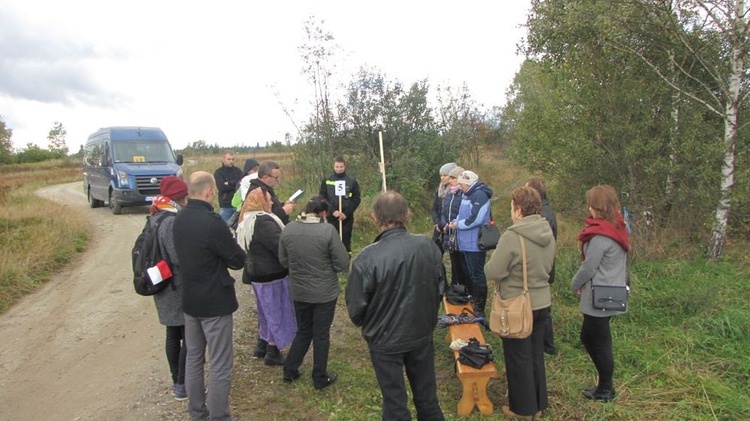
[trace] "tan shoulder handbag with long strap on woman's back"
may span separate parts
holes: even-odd
[[[526,242],[521,235],[518,239],[521,241],[523,260],[523,293],[504,300],[500,296],[500,285],[496,285],[490,313],[490,330],[508,339],[528,338],[534,327],[534,314],[531,310],[531,295],[529,294],[529,274],[526,267]]]

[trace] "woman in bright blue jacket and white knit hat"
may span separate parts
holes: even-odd
[[[492,189],[479,181],[474,171],[464,171],[458,176],[458,185],[464,194],[458,215],[449,224],[457,230],[458,251],[464,257],[465,269],[471,282],[474,296],[474,313],[484,317],[487,302],[487,278],[484,275],[484,260],[487,252],[479,248],[479,230],[492,219],[490,197]]]

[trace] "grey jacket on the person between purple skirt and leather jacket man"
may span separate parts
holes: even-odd
[[[326,303],[339,295],[336,273],[348,270],[349,253],[333,225],[307,217],[284,227],[279,263],[289,268],[294,301]]]

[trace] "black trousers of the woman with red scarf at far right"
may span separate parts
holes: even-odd
[[[612,352],[612,331],[609,327],[611,318],[584,314],[581,326],[581,343],[599,373],[599,390],[610,390],[613,387],[615,357]]]

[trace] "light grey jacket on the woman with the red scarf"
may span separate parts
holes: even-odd
[[[617,242],[603,235],[594,236],[584,245],[586,260],[573,276],[570,291],[581,290],[579,310],[594,317],[608,317],[623,314],[624,311],[603,311],[594,309],[592,303],[591,280],[596,285],[625,285],[627,280],[628,253]]]

